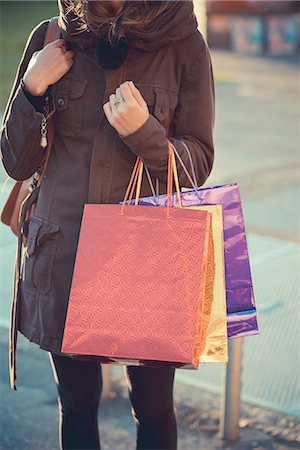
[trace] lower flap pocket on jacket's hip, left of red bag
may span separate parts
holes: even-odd
[[[22,283],[30,291],[46,295],[51,290],[59,226],[33,216],[28,224]]]

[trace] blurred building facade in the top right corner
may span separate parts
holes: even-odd
[[[300,53],[300,1],[206,2],[211,47],[236,52]]]

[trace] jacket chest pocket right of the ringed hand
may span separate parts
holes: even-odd
[[[178,103],[178,93],[165,87],[135,83],[148,105],[150,114],[160,122],[170,122]]]

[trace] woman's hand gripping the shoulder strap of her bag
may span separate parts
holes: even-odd
[[[50,84],[56,83],[73,64],[74,52],[66,49],[63,39],[56,39],[34,52],[23,76],[31,95],[43,95]]]

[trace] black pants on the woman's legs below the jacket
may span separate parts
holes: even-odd
[[[49,352],[59,400],[61,449],[100,449],[101,365]],[[125,366],[137,426],[137,449],[177,449],[173,408],[175,369]]]

